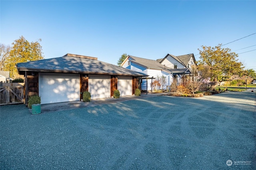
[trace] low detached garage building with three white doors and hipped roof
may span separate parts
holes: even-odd
[[[40,95],[41,103],[80,101],[82,92],[91,99],[132,95],[138,78],[147,75],[99,61],[96,57],[66,54],[62,57],[18,63],[18,73],[25,78],[25,103],[28,97]]]

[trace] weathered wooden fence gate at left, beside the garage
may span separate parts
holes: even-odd
[[[24,103],[23,86],[0,87],[0,105]]]

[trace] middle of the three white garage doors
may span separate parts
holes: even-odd
[[[91,99],[110,97],[110,75],[89,75],[88,90]]]

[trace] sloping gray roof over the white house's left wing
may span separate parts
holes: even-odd
[[[156,60],[134,57],[132,55],[128,55],[128,56],[130,57],[130,61],[132,61],[133,63],[137,63],[147,68],[170,69],[169,67],[165,67],[164,65],[160,64]]]

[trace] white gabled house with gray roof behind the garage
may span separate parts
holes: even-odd
[[[121,64],[122,67],[138,71],[149,75],[148,77],[164,76],[166,84],[162,89],[170,86],[174,79],[180,84],[184,75],[190,75],[191,65],[195,64],[194,54],[175,56],[167,54],[162,59],[152,60],[128,55]],[[142,79],[141,90],[150,90],[151,80],[146,83],[146,79]],[[148,84],[148,85],[147,85]]]

